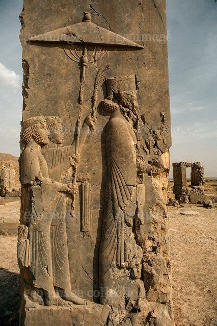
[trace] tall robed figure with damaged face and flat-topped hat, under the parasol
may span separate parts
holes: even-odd
[[[127,237],[132,237],[132,217],[136,210],[137,136],[132,121],[124,115],[126,109],[123,107],[124,102],[127,107],[132,99],[135,100],[134,76],[107,79],[106,86],[108,98],[101,105],[104,113],[110,115],[110,120],[105,126],[107,181],[99,277],[103,292],[101,302],[110,304],[114,302],[113,292],[117,291],[118,273],[121,269],[124,273],[131,259]]]

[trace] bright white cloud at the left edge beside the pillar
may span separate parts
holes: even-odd
[[[17,89],[20,87],[20,75],[15,71],[8,69],[4,64],[0,62],[0,84],[1,88],[11,87]]]

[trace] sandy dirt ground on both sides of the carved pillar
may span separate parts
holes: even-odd
[[[184,216],[181,211],[198,211]],[[171,266],[175,323],[177,326],[214,326],[215,243],[217,209],[198,205],[169,207]],[[17,237],[0,236],[0,324],[17,325],[19,275]]]

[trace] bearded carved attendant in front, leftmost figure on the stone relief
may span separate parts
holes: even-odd
[[[22,123],[20,156],[21,225],[18,231],[18,263],[25,308],[39,305],[87,304],[71,291],[65,229],[66,194],[71,185],[49,178],[41,148],[49,131],[45,117]],[[57,206],[62,210],[57,216]]]

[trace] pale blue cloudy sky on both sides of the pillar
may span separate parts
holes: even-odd
[[[0,0],[0,152],[15,156],[22,111],[21,9],[21,0]],[[201,161],[205,175],[217,177],[217,3],[167,0],[167,24],[171,162]]]

